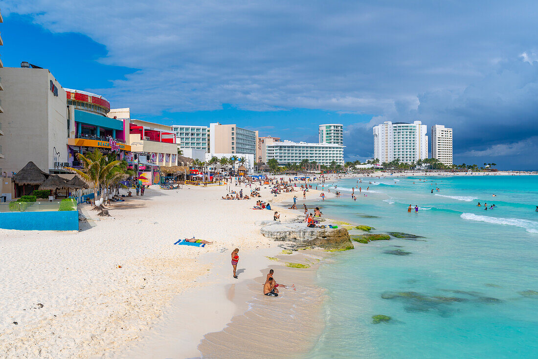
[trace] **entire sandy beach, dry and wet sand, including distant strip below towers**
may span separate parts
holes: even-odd
[[[326,181],[377,175],[390,173],[328,175]],[[250,193],[232,186],[241,188]],[[307,200],[320,201],[320,192],[314,184]],[[219,357],[233,357],[237,353],[226,343],[233,337],[242,344],[232,333],[274,333],[270,323],[278,320],[288,323],[288,332],[279,332],[287,341],[274,357],[308,351],[322,328],[315,263],[328,254],[308,251],[293,262],[307,260],[311,269],[286,268],[282,242],[262,236],[255,224],[271,220],[273,210],[251,209],[257,199],[222,200],[225,194],[224,186],[169,191],[152,186],[143,197],[112,205],[112,217],[98,219],[81,205],[88,222],[79,232],[0,230],[0,275],[9,278],[0,293],[0,358],[212,357],[216,350]],[[274,197],[262,186],[261,195],[283,221],[302,214],[302,192]],[[299,210],[274,205],[291,202],[293,195]],[[193,236],[215,243],[173,245]],[[236,247],[239,279],[231,276],[230,253]],[[297,286],[285,292],[279,307],[259,295],[270,267],[278,268],[279,281]],[[258,297],[264,300],[253,300]],[[270,313],[263,313],[267,305]],[[290,339],[289,328],[309,334]],[[252,338],[245,340],[246,345]],[[259,357],[266,349],[260,344],[250,355]]]

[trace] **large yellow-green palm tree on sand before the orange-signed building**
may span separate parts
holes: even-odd
[[[82,170],[72,167],[65,168],[70,172],[74,172],[89,186],[94,187],[95,201],[97,199],[98,188],[105,184],[109,173],[114,169],[114,167],[119,166],[121,161],[107,161],[107,157],[103,156],[103,153],[97,147],[93,152],[86,153],[86,156],[84,156],[82,153],[77,153],[76,158],[81,162]],[[101,191],[101,198],[103,198],[103,191]]]

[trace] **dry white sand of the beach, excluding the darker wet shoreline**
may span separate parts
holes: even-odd
[[[298,192],[275,199],[263,191],[264,200],[289,201],[294,194],[302,199]],[[0,358],[122,356],[178,293],[229,285],[231,249],[240,248],[242,259],[252,253],[256,262],[261,255],[254,250],[278,243],[261,236],[254,225],[272,219],[273,211],[249,209],[255,199],[220,199],[225,192],[223,187],[150,188],[144,197],[112,205],[113,218],[90,220],[91,227],[78,233],[0,230]],[[318,194],[310,191],[308,196]],[[95,217],[89,206],[82,208]],[[282,219],[299,214],[282,212]],[[193,235],[216,243],[206,248],[173,245]],[[226,263],[228,272],[212,272]],[[266,265],[256,263],[258,268]],[[258,274],[253,270],[240,278]],[[207,299],[203,291],[198,295]],[[196,296],[190,300],[196,302]],[[189,308],[194,309],[202,311],[204,305]],[[219,330],[233,310],[223,309],[226,314],[217,325],[211,325],[211,316],[200,317],[192,341]]]

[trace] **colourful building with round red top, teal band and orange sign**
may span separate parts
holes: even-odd
[[[101,95],[82,90],[65,89],[67,97],[67,165],[81,168],[77,153],[99,149],[115,152],[118,159],[129,157],[129,120],[108,116],[110,103]],[[129,110],[129,109],[127,109]]]

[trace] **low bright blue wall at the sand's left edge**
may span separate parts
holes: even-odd
[[[0,228],[19,230],[79,230],[77,210],[2,212]]]

